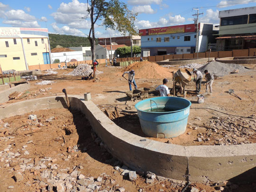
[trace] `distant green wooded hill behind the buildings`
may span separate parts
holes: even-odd
[[[55,48],[57,45],[63,46],[63,47],[91,46],[89,39],[87,37],[49,34],[49,40],[50,40],[51,49]],[[97,44],[98,44],[98,39],[96,39],[96,45]]]

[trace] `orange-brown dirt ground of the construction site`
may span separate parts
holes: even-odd
[[[179,137],[175,137],[173,139],[157,139],[150,138],[154,140],[158,140],[161,142],[169,142],[178,145],[233,145],[233,144],[243,144],[243,143],[255,143],[256,142],[256,132],[253,130],[254,123],[256,123],[256,65],[247,65],[249,68],[254,68],[246,73],[236,73],[229,74],[224,77],[221,77],[214,81],[213,83],[213,94],[206,95],[204,99],[204,103],[198,104],[197,97],[193,93],[195,90],[195,85],[191,82],[189,86],[186,86],[186,90],[188,91],[186,99],[192,102],[190,116],[188,119],[188,126],[185,133],[183,133]],[[121,128],[124,128],[132,133],[137,135],[146,137],[143,135],[139,121],[136,115],[136,109],[134,105],[139,101],[130,101],[126,95],[126,91],[129,91],[128,82],[121,76],[123,73],[123,68],[121,67],[104,67],[101,65],[97,68],[99,71],[102,71],[100,75],[98,75],[98,79],[96,82],[84,81],[81,80],[81,76],[69,76],[65,75],[66,73],[71,72],[73,69],[61,69],[56,70],[57,74],[50,75],[37,75],[37,81],[30,81],[31,86],[28,90],[30,92],[30,96],[24,98],[22,100],[10,100],[6,103],[2,103],[0,107],[4,107],[5,105],[9,105],[9,103],[23,101],[26,99],[47,97],[53,95],[63,95],[62,89],[66,89],[68,95],[83,95],[85,92],[91,92],[91,100],[99,106],[102,110],[105,108],[112,109],[113,106],[117,106],[120,111],[123,112],[123,117],[119,119],[114,119],[113,121],[118,124]],[[166,69],[168,71],[177,70],[177,67]],[[136,77],[136,76],[135,76]],[[172,73],[170,76],[166,77],[170,81],[167,86],[172,87]],[[49,85],[35,85],[36,82],[41,82],[42,80],[53,81],[52,84]],[[161,79],[135,79],[138,88],[141,87],[156,87],[159,84],[162,84]],[[51,88],[51,89],[48,89]],[[242,99],[239,100],[234,94],[229,94],[229,89],[233,89],[235,93]],[[40,91],[41,90],[41,91]],[[201,93],[205,92],[205,86],[202,85]],[[210,108],[212,110],[206,110],[202,108]],[[226,114],[225,114],[226,113]],[[36,114],[37,118],[43,118],[44,122],[46,119],[54,116],[52,122],[47,122],[49,126],[51,126],[51,132],[49,133],[44,127],[37,128],[33,130],[29,130],[28,134],[23,129],[17,129],[22,126],[26,126],[27,119],[29,114]],[[75,116],[73,115],[75,114]],[[232,114],[241,117],[234,117]],[[84,133],[79,131],[81,130],[81,122],[76,122],[76,116],[81,116],[77,111],[68,111],[68,110],[40,110],[35,111],[33,113],[27,113],[25,115],[19,117],[11,117],[7,119],[2,119],[4,122],[8,122],[10,124],[10,131],[8,133],[9,136],[13,136],[7,142],[3,139],[0,141],[1,148],[0,150],[4,150],[8,145],[12,145],[15,143],[15,146],[18,148],[22,148],[22,146],[27,145],[29,150],[29,154],[26,158],[43,158],[45,156],[51,156],[51,158],[56,158],[57,163],[62,167],[62,169],[66,167],[81,165],[83,166],[81,171],[82,174],[86,176],[93,176],[97,178],[102,173],[106,173],[111,176],[116,182],[113,185],[119,184],[126,189],[126,191],[136,192],[139,188],[136,186],[147,186],[148,183],[145,183],[145,178],[139,176],[136,180],[136,183],[128,181],[127,178],[123,178],[118,171],[114,170],[111,164],[111,155],[108,154],[104,149],[95,144],[91,138],[91,127],[88,124]],[[215,117],[212,119],[212,117]],[[246,117],[250,117],[252,119],[248,119]],[[226,133],[221,128],[211,128],[211,123],[217,123],[219,119],[222,119],[223,123],[229,123],[230,120],[239,121],[241,124],[239,127],[247,128],[250,131],[245,132],[240,142],[233,143],[233,140],[237,140],[231,134]],[[230,118],[230,119],[228,119]],[[212,122],[210,122],[212,121]],[[43,124],[44,124],[43,122]],[[246,125],[247,123],[247,125]],[[50,125],[52,124],[52,125]],[[63,125],[68,124],[71,130],[64,129]],[[84,123],[85,124],[85,123]],[[83,124],[83,126],[84,126]],[[2,128],[3,123],[1,123],[0,128]],[[29,127],[28,127],[29,128]],[[17,129],[17,130],[16,130]],[[45,129],[45,130],[44,130]],[[2,130],[2,129],[1,129]],[[240,130],[240,129],[239,129]],[[70,133],[66,135],[66,133]],[[232,133],[232,132],[231,132]],[[30,135],[29,140],[33,140],[33,145],[28,145],[27,139],[25,139],[25,134]],[[81,134],[84,134],[84,140],[80,140]],[[227,135],[227,136],[226,136]],[[66,137],[67,143],[62,146],[63,137]],[[1,136],[2,137],[2,136]],[[202,138],[202,141],[198,141],[198,137]],[[228,142],[221,142],[223,140],[227,140]],[[59,139],[56,139],[59,138]],[[209,139],[207,139],[209,138]],[[233,140],[232,140],[233,139]],[[232,141],[231,141],[232,140]],[[36,142],[35,144],[35,141]],[[40,141],[40,142],[39,142]],[[69,153],[67,152],[67,147],[73,147],[74,145],[82,145],[87,147],[86,152],[78,151],[70,154],[70,158],[68,161],[65,161]],[[33,155],[32,155],[33,154]],[[62,154],[61,156],[58,156]],[[64,159],[64,160],[63,160]],[[18,165],[18,164],[17,164]],[[13,168],[13,167],[12,167]],[[42,186],[38,184],[38,178],[34,172],[26,172],[24,182],[15,183],[14,179],[11,178],[14,175],[14,171],[11,171],[10,167],[6,166],[5,162],[0,162],[0,191],[39,191],[42,189]],[[59,168],[58,168],[59,169]],[[60,168],[61,169],[61,168]],[[26,184],[27,182],[28,185]],[[158,181],[155,181],[155,183]],[[34,185],[33,185],[34,183]],[[29,185],[30,184],[30,185]],[[209,183],[211,184],[211,183]],[[253,192],[256,191],[256,183],[249,184],[238,184],[237,189],[232,189],[232,192]],[[7,189],[8,186],[13,185],[15,188]],[[103,185],[102,185],[103,186]],[[105,186],[105,185],[104,185]],[[110,185],[109,185],[110,186]],[[204,185],[200,183],[194,183],[199,190],[205,190],[206,192],[216,191],[213,187],[209,185]],[[110,186],[112,187],[112,186]],[[143,188],[143,192],[152,191],[156,192],[160,189],[164,191],[182,191],[184,188],[183,185],[175,185],[172,182],[165,181],[163,183],[158,183],[154,186]],[[191,188],[191,187],[190,187]]]

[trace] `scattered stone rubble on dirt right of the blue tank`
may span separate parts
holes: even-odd
[[[206,133],[197,135],[197,141],[214,140],[215,145],[239,145],[254,143],[253,139],[256,139],[255,119],[212,117],[207,127]]]

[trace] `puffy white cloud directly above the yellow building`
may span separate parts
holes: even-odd
[[[35,21],[37,20],[35,16],[29,15],[25,13],[24,10],[21,9],[11,9],[5,12],[5,16],[7,20],[22,20],[22,21]]]

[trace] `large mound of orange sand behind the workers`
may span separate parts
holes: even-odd
[[[135,78],[149,78],[149,79],[164,79],[164,78],[172,78],[172,70],[167,69],[165,67],[161,67],[158,64],[143,61],[137,62],[126,67],[123,72],[135,71]]]

